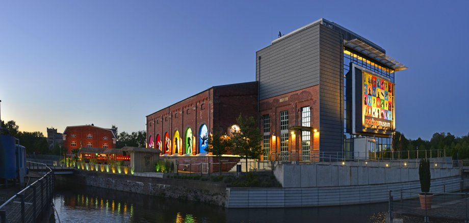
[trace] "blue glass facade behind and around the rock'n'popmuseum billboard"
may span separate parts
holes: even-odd
[[[350,70],[350,64],[356,64],[360,67],[367,68],[377,74],[380,74],[384,77],[387,77],[391,80],[392,83],[395,82],[394,80],[394,70],[389,69],[387,67],[383,67],[379,64],[374,63],[373,61],[362,57],[359,54],[356,54],[352,51],[344,49],[344,83],[346,83],[346,75]],[[347,85],[344,85],[344,137],[346,139],[356,138],[358,135],[350,134],[347,131],[347,127],[351,128],[351,117],[349,117],[351,111],[347,110],[347,107],[351,109],[351,106],[347,106]],[[376,144],[375,144],[375,151],[390,151],[391,150],[391,142],[392,138],[390,137],[375,137]],[[346,140],[344,142],[344,151],[353,151],[353,140]],[[350,144],[351,143],[351,144]]]

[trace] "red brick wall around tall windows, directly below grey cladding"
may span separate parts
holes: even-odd
[[[302,126],[301,108],[310,107],[310,124],[312,129],[319,129],[319,85],[298,91],[286,93],[259,102],[260,117],[269,115],[270,118],[270,154],[275,156],[280,152],[280,113],[288,110],[289,128]],[[264,132],[261,120],[261,132]],[[293,134],[292,134],[293,132]],[[301,130],[288,131],[288,152],[301,154]],[[310,132],[310,152],[319,151],[319,131]],[[262,157],[264,159],[264,157]],[[274,157],[270,157],[272,160]]]

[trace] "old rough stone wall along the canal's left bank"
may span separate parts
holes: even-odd
[[[75,170],[74,182],[153,196],[225,206],[226,185],[214,182],[149,178]]]

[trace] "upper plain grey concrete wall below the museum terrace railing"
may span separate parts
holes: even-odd
[[[431,178],[461,175],[453,164],[432,166]],[[274,175],[283,187],[331,187],[419,181],[419,168],[332,164],[278,164]]]

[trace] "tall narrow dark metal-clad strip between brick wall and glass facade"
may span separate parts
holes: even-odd
[[[324,152],[341,152],[342,118],[342,36],[320,26],[319,147]]]

